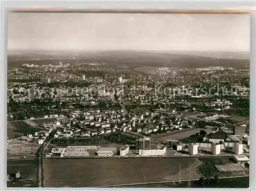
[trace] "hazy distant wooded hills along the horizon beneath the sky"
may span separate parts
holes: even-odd
[[[34,60],[34,59],[35,60]],[[153,51],[100,51],[100,52],[20,52],[8,54],[8,65],[24,63],[57,64],[104,62],[109,65],[157,67],[209,67],[225,66],[245,68],[249,65],[249,53],[207,53],[207,52],[153,52]]]

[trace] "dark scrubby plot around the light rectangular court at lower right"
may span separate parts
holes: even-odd
[[[249,175],[249,170],[246,171],[219,171],[216,165],[232,164],[234,163],[229,157],[222,158],[199,158],[202,165],[198,167],[198,172],[206,177],[219,175],[220,177],[228,176],[244,176]]]

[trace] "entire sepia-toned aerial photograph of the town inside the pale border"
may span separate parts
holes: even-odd
[[[7,26],[7,187],[249,187],[249,14]]]

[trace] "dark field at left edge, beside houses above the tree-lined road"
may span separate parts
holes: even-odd
[[[15,138],[17,136],[34,133],[38,131],[39,128],[30,127],[23,121],[8,122],[7,123],[7,136],[9,138]]]

